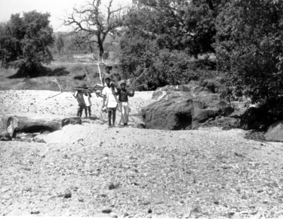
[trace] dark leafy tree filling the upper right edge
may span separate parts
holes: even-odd
[[[223,73],[223,103],[283,106],[283,4],[280,0],[237,0],[217,18],[216,57]]]

